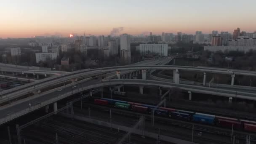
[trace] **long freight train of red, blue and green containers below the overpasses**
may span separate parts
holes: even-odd
[[[152,109],[156,107],[154,105],[106,98],[94,99],[94,104],[106,105],[145,114],[150,114]],[[222,128],[234,128],[237,130],[256,132],[256,122],[249,120],[240,120],[237,118],[223,117],[218,115],[208,115],[199,112],[190,112],[167,107],[159,107],[158,109],[155,109],[154,113],[158,116],[171,117],[177,120],[192,121],[196,123],[216,125]]]

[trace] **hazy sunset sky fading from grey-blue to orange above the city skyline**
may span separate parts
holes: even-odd
[[[0,0],[0,37],[256,31],[256,0]],[[118,34],[118,33],[116,33]]]

